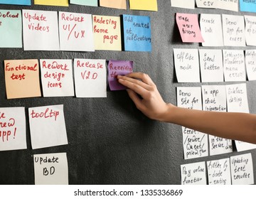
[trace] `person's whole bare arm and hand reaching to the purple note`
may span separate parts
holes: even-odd
[[[134,72],[117,78],[122,85],[129,88],[127,92],[137,108],[151,119],[171,122],[213,136],[256,144],[255,114],[206,112],[176,107],[164,102],[149,75]]]

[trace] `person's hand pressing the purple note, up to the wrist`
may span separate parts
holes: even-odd
[[[149,75],[133,72],[125,76],[118,75],[117,79],[120,84],[128,88],[129,97],[137,109],[151,119],[164,121],[170,104],[164,102]]]

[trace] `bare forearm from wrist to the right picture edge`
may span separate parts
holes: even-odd
[[[256,116],[231,112],[206,112],[168,104],[160,119],[213,136],[256,144]]]

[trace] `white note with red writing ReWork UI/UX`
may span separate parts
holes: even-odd
[[[92,15],[59,12],[60,50],[95,51]]]

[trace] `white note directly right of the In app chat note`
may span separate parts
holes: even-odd
[[[228,112],[249,113],[246,84],[225,85]]]

